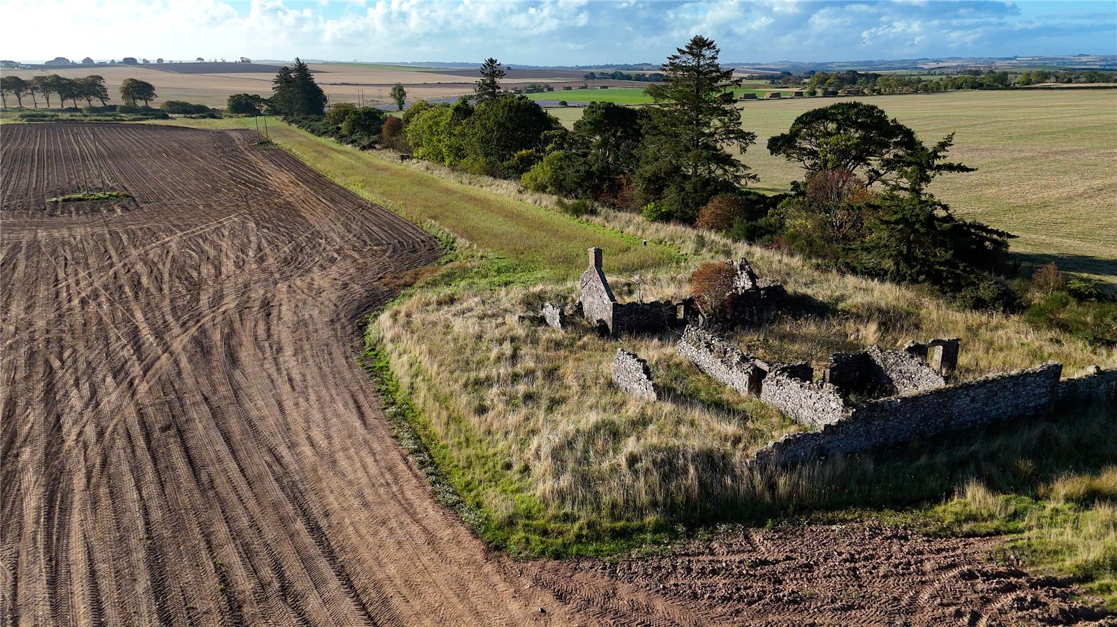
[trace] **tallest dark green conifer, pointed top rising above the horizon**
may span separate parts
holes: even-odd
[[[733,88],[741,80],[718,64],[712,39],[694,37],[661,66],[663,81],[648,87],[655,104],[643,124],[640,192],[666,211],[660,218],[694,221],[719,193],[754,180],[737,156],[756,141],[741,127]]]

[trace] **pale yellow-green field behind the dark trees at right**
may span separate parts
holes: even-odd
[[[742,105],[743,126],[757,135],[744,157],[760,176],[755,186],[787,190],[802,176],[795,164],[768,154],[767,138],[799,114],[840,99]],[[958,215],[1020,235],[1012,250],[1022,260],[1054,261],[1117,286],[1117,90],[954,91],[862,102],[928,143],[955,133],[951,156],[977,172],[945,175],[932,191]],[[567,126],[582,113],[548,110]]]

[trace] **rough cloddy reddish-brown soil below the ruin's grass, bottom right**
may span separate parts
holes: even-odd
[[[716,625],[1117,625],[1075,600],[1069,580],[990,561],[996,543],[872,523],[783,527],[579,569],[686,599]]]

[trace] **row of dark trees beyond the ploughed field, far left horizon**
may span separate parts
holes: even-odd
[[[151,83],[125,78],[120,88],[121,99],[127,106],[136,106],[143,100],[144,106],[155,99],[155,88]],[[58,98],[61,107],[66,106],[66,100],[70,100],[76,108],[78,100],[85,100],[87,106],[93,106],[94,100],[101,102],[101,106],[108,104],[108,88],[105,86],[105,78],[98,75],[89,75],[83,78],[66,78],[57,74],[36,76],[23,79],[18,76],[0,77],[0,96],[3,98],[3,106],[8,106],[8,96],[16,98],[17,106],[23,108],[23,98],[30,97],[35,108],[39,107],[38,97],[42,96],[47,108],[50,108],[51,96]]]

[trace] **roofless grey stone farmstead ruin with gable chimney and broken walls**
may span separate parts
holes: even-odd
[[[768,363],[726,339],[723,329],[761,320],[786,299],[784,287],[760,278],[744,259],[728,262],[733,286],[716,307],[703,310],[695,298],[679,301],[618,302],[602,270],[602,251],[589,249],[579,279],[576,312],[591,329],[618,338],[681,329],[679,356],[714,380],[757,398],[809,428],[770,442],[753,463],[783,465],[890,446],[916,438],[1050,414],[1060,405],[1117,395],[1117,370],[1092,367],[1083,377],[1061,379],[1062,365],[954,380],[960,338],[909,341],[900,350],[870,346],[836,353],[815,378],[804,361]],[[566,312],[543,306],[540,321],[569,328]],[[612,380],[629,396],[662,401],[647,361],[618,349]]]

